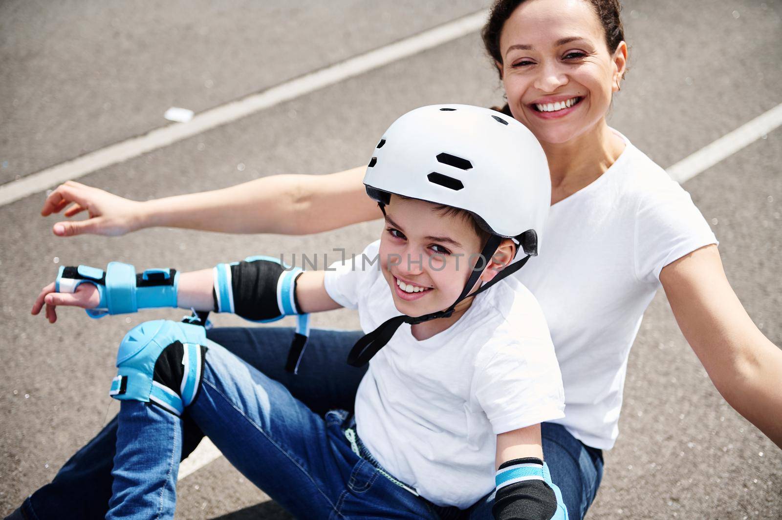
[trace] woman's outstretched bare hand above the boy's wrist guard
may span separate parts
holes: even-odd
[[[73,180],[60,184],[48,195],[41,208],[41,215],[59,213],[68,205],[64,213],[66,217],[86,211],[89,218],[56,223],[52,230],[58,237],[72,237],[82,233],[118,237],[135,231],[142,218],[141,202],[118,197]]]

